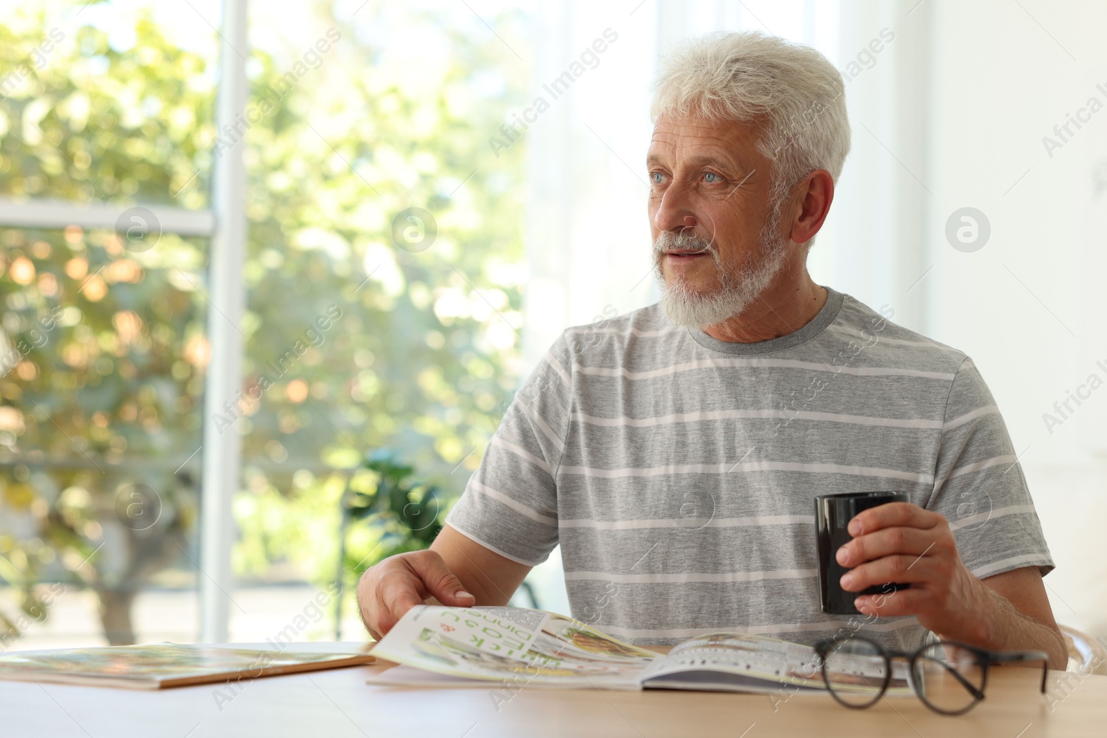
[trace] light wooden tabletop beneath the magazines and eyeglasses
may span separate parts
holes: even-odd
[[[260,647],[239,644],[240,647]],[[296,651],[356,651],[361,644],[293,644]],[[369,686],[389,664],[164,692],[0,683],[0,738],[132,736],[207,738],[296,736],[865,736],[1037,738],[1107,736],[1107,676],[1051,672],[1049,699],[1012,688],[1015,667],[993,669],[987,698],[962,717],[922,703],[886,700],[868,710],[828,695],[610,692],[494,687],[425,689]],[[1058,688],[1056,679],[1067,686]],[[1025,680],[1017,685],[1025,687]]]

